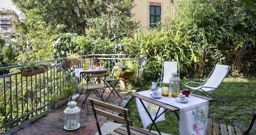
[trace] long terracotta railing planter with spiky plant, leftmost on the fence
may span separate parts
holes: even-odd
[[[45,62],[28,61],[25,66],[20,68],[20,73],[24,77],[34,76],[35,74],[44,73],[48,68]]]

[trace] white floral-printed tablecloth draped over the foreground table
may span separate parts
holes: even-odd
[[[137,93],[142,96],[152,98],[150,96],[150,90]],[[204,135],[207,125],[209,101],[195,96],[189,96],[186,98],[189,100],[187,103],[178,103],[176,102],[175,98],[172,97],[161,97],[160,99],[155,100],[180,108],[180,135]],[[147,126],[151,124],[152,121],[148,117],[145,109],[143,108],[138,98],[136,98],[136,103],[143,127],[147,128]],[[151,117],[154,119],[155,114],[158,110],[158,106],[148,103],[146,101],[143,101],[143,103],[146,106],[148,112],[150,112]],[[163,108],[160,109],[158,114],[160,114],[161,112],[163,112]],[[164,115],[157,119],[157,121],[161,120],[165,120]],[[166,127],[169,126],[166,125]]]

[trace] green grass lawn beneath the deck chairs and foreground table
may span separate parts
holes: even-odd
[[[187,79],[182,80],[182,89]],[[214,92],[214,95],[220,97],[225,101],[224,104],[218,101],[211,101],[209,106],[208,118],[214,122],[237,126],[245,129],[249,126],[253,114],[256,113],[256,77],[227,77],[221,87]],[[151,82],[147,82],[141,90],[147,90]],[[126,108],[131,110],[129,119],[132,120],[133,125],[143,128],[136,101],[132,98],[127,104]],[[166,120],[157,123],[161,132],[178,135],[178,120],[176,116],[167,111],[165,113]],[[254,124],[254,128],[256,128]],[[150,126],[148,126],[148,129]],[[155,128],[153,128],[154,131]],[[256,134],[256,130],[251,132]]]

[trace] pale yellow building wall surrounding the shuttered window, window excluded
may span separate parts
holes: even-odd
[[[174,1],[174,4],[177,0]],[[149,28],[149,5],[150,2],[161,3],[161,21],[166,17],[172,18],[173,4],[172,0],[134,0],[135,7],[132,9],[133,20],[140,22],[144,29]]]

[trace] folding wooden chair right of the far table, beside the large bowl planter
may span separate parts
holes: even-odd
[[[123,66],[124,66],[124,64],[120,64],[120,63],[115,63],[115,69],[121,69],[121,71],[123,70]],[[114,79],[113,77],[114,77],[114,68],[112,69],[112,76],[111,76],[111,78],[110,77],[106,77],[106,78],[104,78],[104,77],[101,77],[101,78],[99,78],[99,79],[101,79],[101,80],[103,80],[105,83],[106,83],[106,88],[108,87],[109,88],[109,85],[112,87],[112,90],[109,88],[109,90],[111,91],[110,92],[110,94],[109,94],[109,96],[108,96],[108,98],[107,98],[107,100],[106,101],[108,101],[108,99],[109,99],[109,97],[110,97],[110,95],[113,93],[113,95],[115,95],[114,94],[114,92],[116,92],[116,94],[122,99],[122,97],[117,93],[117,91],[116,91],[116,85],[118,84],[118,82],[119,82],[119,80],[120,80],[120,76],[121,76],[121,73],[122,72],[120,72],[120,74],[119,74],[119,76],[118,76],[118,79],[116,80],[116,79]],[[106,90],[106,88],[104,89],[104,91],[103,91],[103,93],[105,92],[105,90]],[[114,92],[113,92],[114,91]]]

